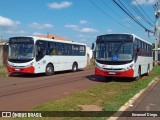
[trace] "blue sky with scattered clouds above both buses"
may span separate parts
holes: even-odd
[[[116,0],[118,1],[118,0]],[[135,0],[121,0],[147,29],[154,30],[136,14]],[[145,18],[155,22],[155,0],[137,0]],[[135,11],[134,11],[134,10]],[[147,14],[147,16],[146,16]],[[113,0],[0,0],[0,36],[36,36],[47,33],[91,46],[108,33],[132,33],[149,42],[153,34],[127,16]]]

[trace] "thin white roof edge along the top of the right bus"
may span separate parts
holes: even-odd
[[[134,38],[140,39],[141,41],[152,45],[152,43],[150,43],[150,42],[148,42],[148,41],[136,36],[135,34],[131,34],[131,33],[110,33],[110,34],[104,34],[104,35],[132,35]],[[99,36],[103,36],[103,35],[99,35]]]

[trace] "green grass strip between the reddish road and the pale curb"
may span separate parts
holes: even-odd
[[[160,77],[160,67],[154,67],[150,76],[143,76],[138,81],[133,80],[118,80],[106,82],[97,85],[91,89],[80,93],[72,94],[64,99],[57,100],[53,103],[37,106],[33,111],[81,111],[82,108],[78,105],[98,105],[103,107],[104,111],[117,111],[130,98],[132,98],[140,90],[146,88],[148,84],[156,77]],[[57,91],[58,93],[58,91]],[[35,119],[35,118],[34,118]],[[56,120],[103,120],[105,117],[55,117],[42,119]]]

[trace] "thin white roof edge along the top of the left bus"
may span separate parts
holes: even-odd
[[[70,43],[70,44],[78,44],[78,45],[85,45],[86,46],[86,44],[84,44],[84,43],[68,41],[68,40],[43,38],[43,37],[37,37],[37,36],[15,36],[15,37],[30,37],[30,38],[33,38],[34,40],[45,40],[45,41],[51,41],[51,42],[55,41],[55,42],[59,42],[59,43]],[[11,38],[15,38],[15,37],[11,37]]]

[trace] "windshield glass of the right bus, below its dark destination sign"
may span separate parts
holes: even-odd
[[[133,59],[132,42],[97,42],[96,59],[105,61],[128,61]]]

